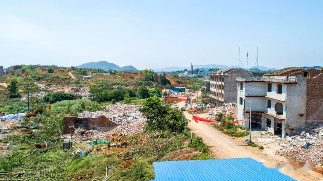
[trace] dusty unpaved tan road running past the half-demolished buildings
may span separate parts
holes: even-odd
[[[179,108],[185,105],[184,101],[178,102]],[[203,115],[196,114],[195,116],[203,117]],[[192,114],[186,112],[186,118],[192,119]],[[188,123],[188,127],[191,128],[191,122]],[[241,158],[251,157],[257,161],[265,162],[283,162],[287,161],[284,157],[280,156],[268,156],[263,154],[258,148],[252,148],[245,145],[241,141],[237,141],[232,137],[221,133],[220,131],[212,128],[208,123],[199,121],[196,123],[193,121],[193,131],[197,136],[203,138],[204,143],[209,146],[217,158]],[[316,172],[300,173],[293,170],[282,171],[284,174],[293,177],[299,181],[316,181],[323,180],[322,175]]]

